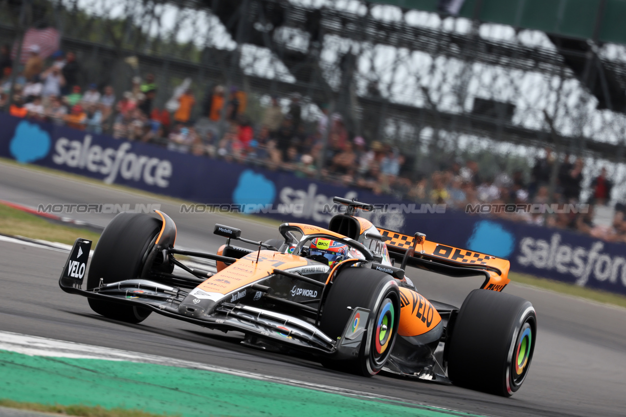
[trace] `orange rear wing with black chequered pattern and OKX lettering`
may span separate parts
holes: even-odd
[[[485,282],[481,289],[493,291],[502,291],[511,281],[508,279],[510,262],[506,259],[431,242],[421,233],[409,236],[394,230],[377,229],[386,240],[389,256],[401,261],[403,269],[411,265],[453,277],[483,275]]]

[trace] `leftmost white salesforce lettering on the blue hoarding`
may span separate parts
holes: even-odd
[[[52,161],[56,165],[106,175],[104,182],[108,184],[115,182],[120,175],[125,180],[143,181],[156,187],[165,188],[170,185],[168,180],[172,177],[170,161],[136,155],[128,152],[131,147],[128,142],[121,143],[117,149],[91,145],[90,135],[85,135],[83,142],[60,138],[54,144]]]

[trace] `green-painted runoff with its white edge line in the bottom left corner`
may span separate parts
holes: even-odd
[[[476,415],[350,389],[12,332],[0,332],[0,393],[3,398],[21,402],[100,405],[185,417]],[[0,416],[9,413],[10,409],[0,408]]]

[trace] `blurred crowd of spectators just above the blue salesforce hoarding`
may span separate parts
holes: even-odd
[[[135,76],[131,88],[117,97],[112,86],[81,84],[81,66],[71,51],[58,51],[48,62],[39,56],[37,46],[31,46],[28,54],[23,71],[12,75],[9,47],[0,49],[0,111],[13,116],[154,143],[173,152],[290,171],[297,177],[316,177],[416,203],[444,203],[458,210],[484,203],[557,203],[558,207],[590,203],[586,213],[499,210],[489,215],[626,242],[626,210],[620,204],[608,209],[613,183],[605,168],[593,178],[588,201],[580,200],[581,158],[566,156],[559,163],[546,148],[545,156],[529,169],[530,178],[522,171],[487,177],[475,160],[457,158],[430,175],[416,177],[413,163],[407,163],[398,148],[352,137],[342,116],[330,114],[326,106],[314,123],[303,120],[302,98],[297,93],[282,101],[272,96],[255,123],[246,112],[247,96],[234,87],[213,86],[198,102],[188,83],[183,84],[166,107],[159,108],[152,74],[143,80]],[[318,169],[320,163],[322,169]],[[551,183],[555,188],[551,189]],[[609,216],[608,222],[597,221],[600,212]]]

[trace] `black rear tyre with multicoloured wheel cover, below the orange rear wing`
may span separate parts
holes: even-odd
[[[513,395],[528,374],[536,331],[529,301],[483,289],[470,292],[447,349],[449,378],[466,388]]]

